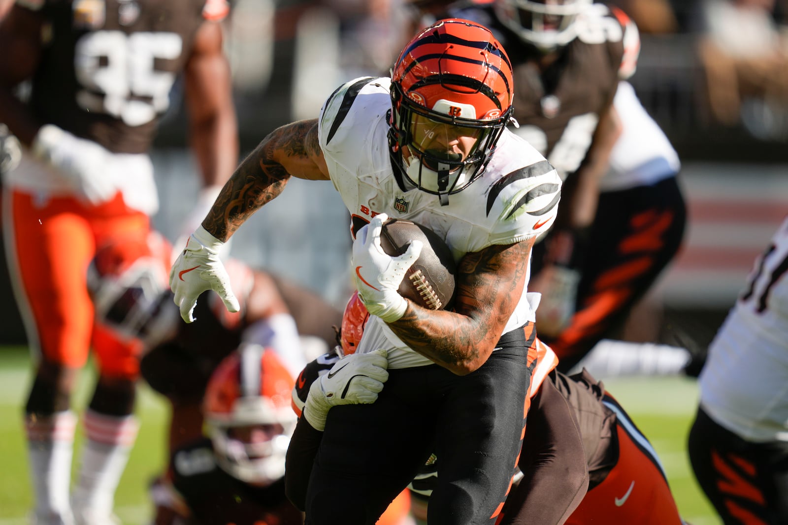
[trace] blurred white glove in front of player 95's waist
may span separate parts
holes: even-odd
[[[97,205],[117,193],[110,173],[112,153],[99,144],[45,124],[35,135],[31,150],[65,175],[80,200]]]

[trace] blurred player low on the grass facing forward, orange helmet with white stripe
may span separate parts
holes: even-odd
[[[153,489],[155,525],[301,525],[284,494],[295,384],[280,353],[243,344],[210,376],[207,435],[173,451]]]

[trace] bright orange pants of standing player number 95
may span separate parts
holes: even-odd
[[[101,205],[72,197],[36,202],[34,194],[5,189],[7,258],[17,305],[33,352],[80,368],[93,348],[102,374],[135,379],[139,342],[122,342],[93,324],[87,266],[115,235],[148,231],[149,218],[129,209],[121,194]],[[10,220],[8,220],[10,219]]]

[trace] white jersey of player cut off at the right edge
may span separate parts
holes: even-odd
[[[788,442],[788,217],[756,259],[700,377],[701,406],[753,442]]]

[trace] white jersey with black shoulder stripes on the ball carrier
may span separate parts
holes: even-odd
[[[403,190],[388,153],[390,79],[361,78],[337,89],[325,102],[319,139],[329,175],[351,213],[351,230],[378,213],[424,224],[443,238],[455,261],[469,252],[541,235],[558,211],[561,180],[528,142],[504,131],[485,172],[440,205],[437,195]],[[504,331],[534,320],[526,290]],[[357,352],[386,348],[390,368],[432,364],[408,348],[372,316]]]

